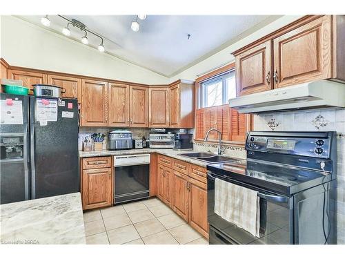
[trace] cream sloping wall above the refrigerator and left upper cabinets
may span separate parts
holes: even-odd
[[[142,84],[168,77],[112,57],[12,16],[0,17],[0,54],[8,64]]]

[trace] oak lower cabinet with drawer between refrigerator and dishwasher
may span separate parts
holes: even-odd
[[[111,157],[87,157],[81,161],[81,198],[83,210],[113,204]],[[92,169],[89,169],[92,168]]]

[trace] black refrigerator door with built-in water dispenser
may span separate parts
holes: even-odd
[[[0,204],[5,204],[30,198],[28,96],[0,93],[0,99]],[[18,120],[19,114],[13,110],[17,106],[7,103],[6,99],[20,102],[22,119]],[[16,117],[14,124],[8,124],[3,113],[12,113]],[[17,124],[21,120],[22,123]]]

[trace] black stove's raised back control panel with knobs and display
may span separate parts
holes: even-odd
[[[331,136],[332,134],[327,132],[250,132],[246,140],[246,150],[329,158]]]

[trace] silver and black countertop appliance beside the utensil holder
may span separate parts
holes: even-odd
[[[109,150],[131,149],[132,147],[132,131],[110,131],[108,135]]]

